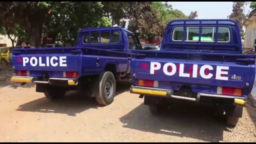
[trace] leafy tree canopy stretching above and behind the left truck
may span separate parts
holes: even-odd
[[[196,11],[186,16],[166,2],[0,2],[0,33],[18,45],[45,47],[75,44],[81,28],[124,27],[129,21],[129,30],[154,36],[163,34],[170,20],[196,17]]]

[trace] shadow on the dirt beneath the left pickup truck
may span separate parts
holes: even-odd
[[[129,90],[131,85],[119,84],[116,88],[116,96]],[[76,116],[90,108],[104,107],[97,104],[95,98],[82,97],[77,91],[69,91],[65,98],[50,101],[43,97],[20,105],[18,111],[42,112],[42,113],[58,113],[67,114],[68,116]]]

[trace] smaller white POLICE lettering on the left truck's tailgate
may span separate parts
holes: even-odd
[[[29,62],[32,67],[67,67],[67,57],[60,56],[59,58],[56,56],[53,57],[23,57],[22,58],[23,66],[25,67]]]

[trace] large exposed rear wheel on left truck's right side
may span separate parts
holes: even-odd
[[[107,71],[99,75],[94,83],[93,95],[98,104],[107,106],[114,101],[116,94],[116,80],[114,75]]]

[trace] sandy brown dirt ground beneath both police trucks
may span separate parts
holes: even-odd
[[[0,142],[256,142],[256,108],[247,105],[235,128],[212,109],[177,104],[153,116],[130,84],[120,84],[111,105],[92,98],[50,102],[35,85],[10,83],[12,67],[0,65]]]

